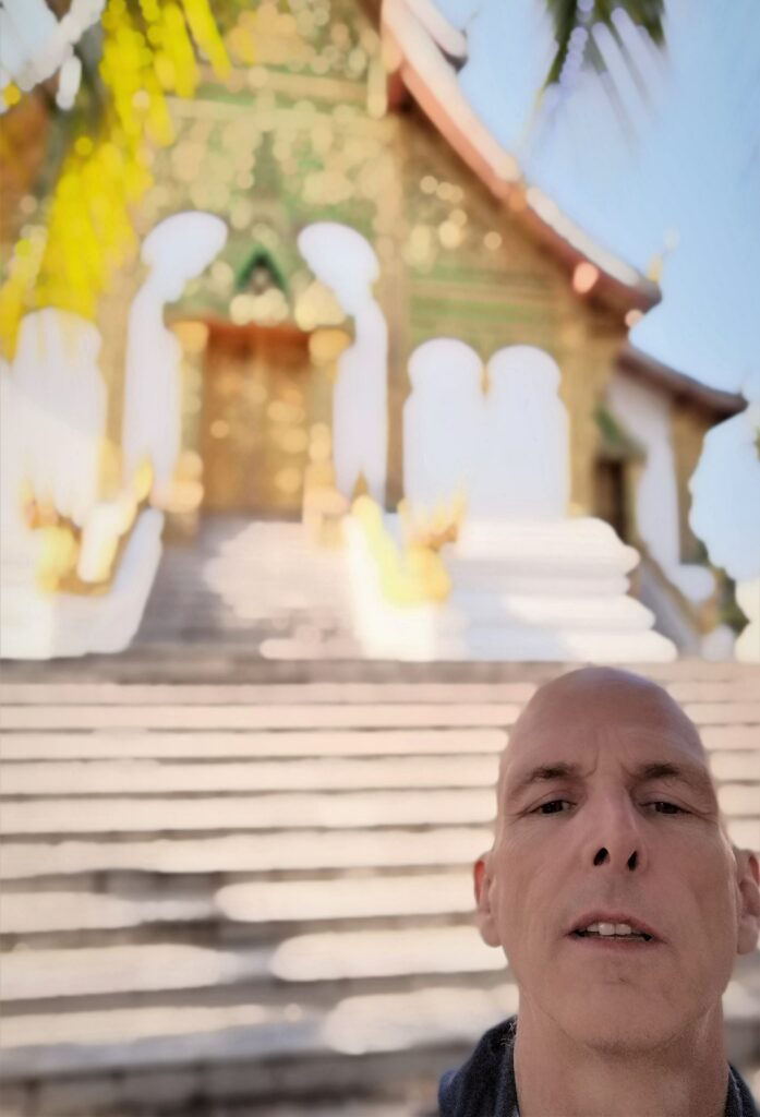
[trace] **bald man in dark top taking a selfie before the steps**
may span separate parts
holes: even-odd
[[[757,947],[758,858],[680,706],[626,671],[564,675],[518,718],[497,795],[478,920],[518,1015],[443,1077],[442,1117],[757,1117],[721,997]]]

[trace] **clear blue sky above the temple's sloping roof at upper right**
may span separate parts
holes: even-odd
[[[760,393],[760,3],[666,0],[662,49],[623,15],[615,35],[589,27],[578,57],[593,44],[605,76],[584,65],[540,103],[541,0],[435,3],[468,35],[464,95],[527,181],[641,271],[662,260],[663,300],[632,343]]]

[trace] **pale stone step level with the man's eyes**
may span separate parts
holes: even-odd
[[[729,819],[756,825],[751,849],[760,849],[759,789],[724,784],[719,801]],[[301,794],[196,796],[184,800],[105,799],[7,802],[6,836],[169,834],[287,829],[356,830],[374,827],[474,825],[494,815],[492,789],[464,791],[356,791]]]

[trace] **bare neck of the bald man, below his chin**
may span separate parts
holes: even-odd
[[[575,1041],[525,1005],[514,1075],[520,1117],[723,1117],[729,1066],[720,1005],[651,1051],[609,1053]]]

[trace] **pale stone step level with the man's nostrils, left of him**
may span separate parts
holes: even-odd
[[[29,881],[118,872],[163,877],[470,865],[491,840],[484,827],[354,830],[350,841],[341,832],[324,830],[121,842],[6,839],[0,847],[0,878]]]

